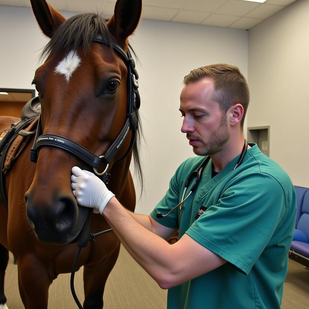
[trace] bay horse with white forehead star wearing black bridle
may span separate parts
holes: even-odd
[[[77,205],[71,168],[95,168],[98,174],[105,170],[105,181],[110,175],[108,188],[134,211],[129,166],[133,154],[137,174],[142,177],[138,156],[141,128],[138,75],[128,37],[139,23],[142,0],[118,0],[109,20],[92,13],[66,20],[45,0],[31,0],[31,5],[50,40],[41,54],[46,60],[33,80],[41,103],[36,136],[28,137],[5,175],[8,206],[2,198],[0,304],[5,308],[8,251],[18,262],[24,307],[44,309],[52,281],[60,273],[71,272],[77,242],[85,247],[78,262],[78,268],[84,265],[83,307],[102,308],[105,282],[120,243],[113,232],[85,243],[85,231],[89,235],[88,230],[97,233],[109,226],[98,214],[90,222],[89,210]],[[16,121],[0,118],[0,132]]]

